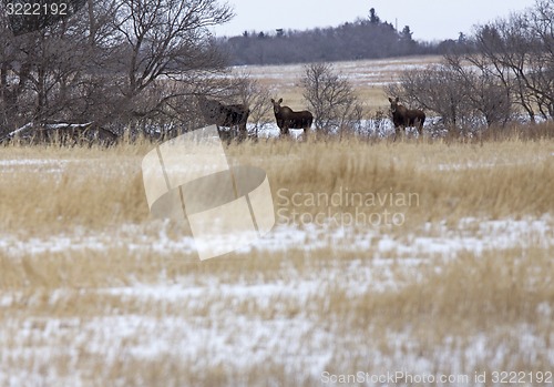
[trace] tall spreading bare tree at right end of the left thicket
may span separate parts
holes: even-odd
[[[158,89],[156,99],[141,101],[143,92],[158,80],[194,85],[224,70],[225,58],[208,28],[230,20],[233,12],[227,4],[216,0],[124,0],[117,14],[113,26],[120,48],[117,61],[125,74],[119,106],[123,106],[131,128],[143,118],[163,113],[164,106],[179,96]],[[194,86],[181,91],[195,92]]]

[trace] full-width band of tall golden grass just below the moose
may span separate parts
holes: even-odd
[[[370,143],[356,138],[260,140],[233,144],[227,154],[232,163],[267,171],[276,205],[285,202],[278,201],[279,190],[280,196],[332,195],[340,190],[414,193],[419,202],[409,208],[412,216],[455,220],[519,217],[552,210],[551,145],[550,139],[519,138],[471,144],[448,140]],[[152,146],[4,147],[2,157],[11,163],[0,171],[4,230],[44,227],[52,232],[146,222],[141,161]],[[52,169],[58,173],[50,173]]]

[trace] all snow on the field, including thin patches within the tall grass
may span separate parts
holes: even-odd
[[[2,160],[0,166],[7,176],[33,170],[49,179],[81,162],[20,159]],[[483,165],[420,167],[431,166],[448,173]],[[357,385],[331,383],[339,374],[352,371],[442,373],[462,380],[442,385],[494,385],[491,378],[488,384],[475,383],[474,374],[484,365],[489,370],[506,366],[513,369],[505,370],[526,370],[517,369],[522,358],[554,364],[548,344],[554,333],[545,339],[540,330],[554,317],[554,305],[547,299],[533,310],[534,323],[464,335],[452,332],[432,345],[427,344],[432,337],[422,338],[421,327],[411,322],[399,327],[392,316],[390,326],[382,327],[373,324],[372,317],[380,316],[357,312],[352,316],[369,322],[360,327],[337,304],[361,308],[372,297],[424,282],[460,256],[485,259],[516,251],[524,261],[532,249],[552,252],[553,216],[466,216],[454,224],[423,223],[394,231],[340,226],[334,220],[318,225],[278,223],[256,243],[203,263],[193,237],[178,236],[167,221],[107,230],[68,227],[48,235],[4,230],[0,267],[20,264],[16,267],[40,283],[42,273],[33,272],[33,259],[50,259],[55,269],[48,275],[57,279],[54,285],[34,288],[3,284],[0,309],[8,312],[0,328],[0,385]],[[107,272],[99,286],[58,285],[58,281],[71,284],[72,278],[64,276],[79,274],[72,268],[83,261],[90,265],[85,271],[94,275],[94,259],[99,266],[113,265],[113,278]],[[124,273],[119,268],[122,259],[131,262]],[[224,269],[211,271],[218,267],[211,263],[224,259],[228,261]],[[81,309],[82,304],[88,307]],[[260,374],[267,375],[267,381],[260,381]],[[209,375],[220,379],[213,380]],[[464,383],[463,376],[470,381]]]

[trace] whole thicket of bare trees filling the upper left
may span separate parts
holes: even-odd
[[[1,19],[4,131],[61,120],[120,134],[185,125],[191,96],[225,70],[208,28],[232,17],[217,0],[86,0],[34,33],[13,37]]]

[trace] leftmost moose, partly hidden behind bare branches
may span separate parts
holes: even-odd
[[[234,128],[238,128],[238,140],[244,140],[247,136],[246,122],[250,110],[244,104],[223,104],[215,100],[208,100],[206,96],[198,96],[198,105],[204,115],[204,120],[208,124],[217,125],[217,131],[222,138],[230,141],[235,133]],[[228,132],[224,132],[219,126],[229,128]]]

